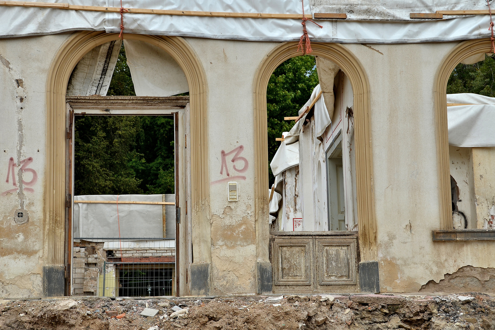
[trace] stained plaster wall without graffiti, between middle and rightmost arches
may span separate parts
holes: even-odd
[[[493,242],[433,242],[440,228],[434,82],[457,43],[345,45],[370,83],[381,290],[417,292],[467,265],[494,268]]]

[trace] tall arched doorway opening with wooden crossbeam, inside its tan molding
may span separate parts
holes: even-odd
[[[187,94],[178,63],[139,40],[99,45],[72,71],[66,95],[71,295],[179,291],[176,215],[181,197],[190,194],[181,192],[187,159],[179,134],[188,126]]]

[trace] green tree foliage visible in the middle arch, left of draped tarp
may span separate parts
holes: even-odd
[[[272,73],[266,89],[268,164],[280,146],[280,142],[275,141],[275,138],[282,137],[282,133],[290,131],[295,124],[294,121],[284,121],[284,117],[297,116],[316,85],[316,61],[311,55],[292,57]],[[274,182],[271,168],[269,182]]]

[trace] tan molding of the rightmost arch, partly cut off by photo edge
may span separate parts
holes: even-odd
[[[437,138],[437,162],[440,199],[440,229],[452,230],[452,207],[450,195],[450,166],[448,155],[447,127],[447,82],[454,68],[469,56],[490,52],[492,42],[489,38],[469,40],[460,43],[446,55],[437,71],[434,85],[435,121]]]

